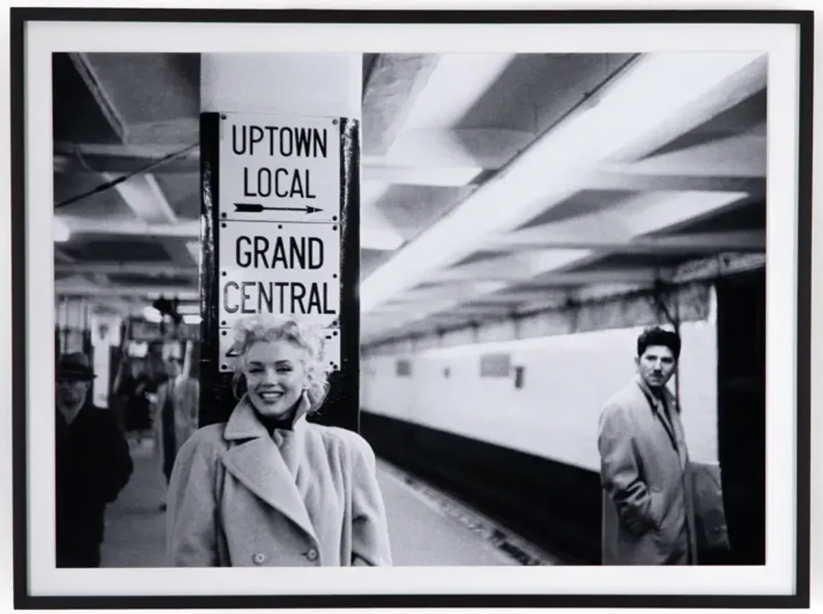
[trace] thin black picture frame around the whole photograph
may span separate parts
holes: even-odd
[[[33,21],[370,24],[792,24],[799,27],[796,592],[768,595],[406,594],[41,597],[29,592],[26,470],[26,24]],[[12,435],[14,604],[21,609],[221,607],[808,607],[810,602],[811,181],[814,13],[811,11],[350,11],[137,8],[11,10]]]

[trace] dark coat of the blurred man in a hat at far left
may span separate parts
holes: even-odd
[[[103,542],[105,506],[128,483],[132,457],[112,412],[86,403],[71,425],[56,414],[57,563],[93,566]]]

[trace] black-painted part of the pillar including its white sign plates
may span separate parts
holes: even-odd
[[[236,406],[237,319],[271,312],[323,331],[332,373],[313,420],[357,430],[360,123],[203,113],[200,162],[199,424],[226,421]]]

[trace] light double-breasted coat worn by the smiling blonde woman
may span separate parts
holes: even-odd
[[[269,435],[244,397],[225,424],[180,449],[167,513],[170,564],[391,565],[374,452],[356,433],[305,420]]]

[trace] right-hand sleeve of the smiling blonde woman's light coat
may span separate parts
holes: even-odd
[[[371,446],[360,439],[354,460],[352,493],[352,565],[392,565],[386,508],[377,482],[377,463]]]

